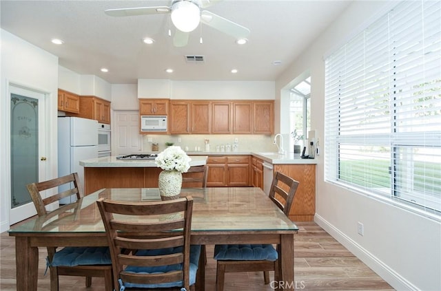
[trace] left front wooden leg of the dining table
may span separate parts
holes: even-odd
[[[17,290],[37,291],[39,248],[30,246],[29,237],[15,237]]]

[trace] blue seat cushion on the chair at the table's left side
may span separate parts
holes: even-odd
[[[112,258],[107,247],[65,247],[55,252],[54,259],[49,266],[82,266],[82,265],[110,265]]]

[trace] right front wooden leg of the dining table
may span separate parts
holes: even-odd
[[[295,290],[294,281],[294,235],[280,235],[280,266],[282,279],[277,283],[280,290]]]

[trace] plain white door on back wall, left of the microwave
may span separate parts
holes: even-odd
[[[114,111],[112,155],[143,151],[143,136],[139,134],[139,111]]]

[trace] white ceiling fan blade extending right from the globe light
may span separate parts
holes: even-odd
[[[247,39],[250,33],[248,28],[207,10],[201,12],[201,21],[220,32],[233,36],[236,39]]]

